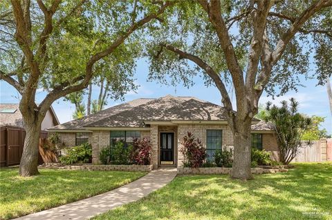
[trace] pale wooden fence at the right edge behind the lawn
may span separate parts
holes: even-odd
[[[292,162],[332,161],[332,139],[313,141],[311,146],[304,146]]]

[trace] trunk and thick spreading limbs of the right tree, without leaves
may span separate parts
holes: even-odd
[[[219,39],[219,45],[225,55],[225,63],[230,72],[237,99],[237,112],[234,112],[232,108],[232,101],[228,91],[225,89],[225,84],[219,72],[214,71],[208,63],[194,54],[190,54],[166,43],[160,43],[160,46],[178,54],[179,59],[193,61],[214,81],[216,88],[219,89],[221,94],[221,102],[225,108],[228,124],[234,136],[232,177],[237,179],[251,179],[251,123],[254,115],[258,112],[259,98],[270,79],[273,66],[282,57],[288,42],[291,41],[297,32],[301,32],[303,24],[316,12],[322,10],[322,8],[331,7],[332,1],[314,1],[299,17],[292,18],[291,26],[289,26],[288,30],[277,41],[277,46],[273,51],[270,50],[268,43],[266,20],[269,14],[270,16],[275,16],[275,14],[269,12],[275,1],[250,1],[248,10],[241,14],[241,16],[250,17],[250,25],[252,26],[252,39],[248,47],[246,72],[243,72],[239,65],[232,40],[228,34],[229,28],[223,20],[221,1],[197,1],[208,15],[208,19],[216,32],[216,37]],[[236,17],[234,19],[237,19]]]

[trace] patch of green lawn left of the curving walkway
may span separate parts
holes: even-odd
[[[107,192],[145,172],[41,169],[19,177],[18,168],[0,170],[0,219],[11,219]]]

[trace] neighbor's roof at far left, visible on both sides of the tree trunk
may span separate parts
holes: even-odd
[[[53,123],[59,124],[57,115],[52,107],[50,107],[50,113],[53,117]],[[0,103],[0,126],[15,126],[23,128],[24,122],[22,114],[19,111],[18,103]]]

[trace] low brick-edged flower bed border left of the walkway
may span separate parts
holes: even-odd
[[[140,171],[150,172],[152,165],[97,165],[97,164],[72,164],[63,166],[60,163],[46,163],[39,168],[57,168],[62,170],[97,170],[97,171]]]

